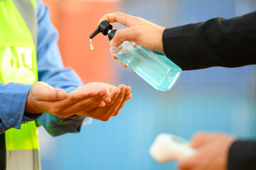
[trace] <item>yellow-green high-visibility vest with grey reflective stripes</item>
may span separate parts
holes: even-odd
[[[33,84],[38,81],[36,44],[36,0],[0,1],[2,83]],[[20,130],[9,129],[5,135],[7,170],[41,169],[34,121],[21,125]]]

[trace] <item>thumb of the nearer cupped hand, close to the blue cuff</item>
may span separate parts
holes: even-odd
[[[33,96],[36,101],[59,101],[67,97],[67,92],[63,89],[53,89],[49,84],[41,83],[33,88]]]

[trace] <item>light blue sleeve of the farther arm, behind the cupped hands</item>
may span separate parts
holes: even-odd
[[[50,23],[48,8],[37,1],[38,13],[38,80],[44,81],[50,86],[65,89],[67,93],[82,86],[82,81],[73,69],[63,67],[63,62],[58,50],[58,33]],[[85,120],[84,120],[85,119]],[[90,124],[91,118],[83,116],[71,116],[70,118],[59,118],[55,115],[43,113],[36,120],[37,125],[43,125],[50,135],[62,135],[66,132],[79,132],[80,126]]]

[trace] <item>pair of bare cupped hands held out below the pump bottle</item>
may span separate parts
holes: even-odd
[[[124,103],[131,98],[131,88],[104,83],[90,83],[67,94],[44,82],[31,87],[26,100],[26,113],[50,113],[60,118],[83,115],[106,121],[117,115]],[[101,108],[101,109],[99,109]]]

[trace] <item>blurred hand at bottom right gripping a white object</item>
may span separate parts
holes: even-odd
[[[228,151],[235,137],[221,133],[198,133],[191,142],[196,154],[178,162],[181,170],[226,170]]]

